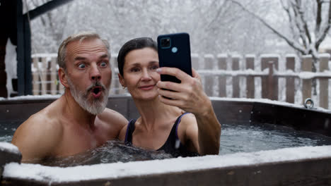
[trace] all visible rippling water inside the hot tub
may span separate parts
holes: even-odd
[[[11,142],[20,123],[0,123],[0,142]],[[10,127],[8,127],[10,126]],[[281,149],[286,147],[331,145],[331,137],[294,130],[280,125],[223,124],[219,154]],[[144,161],[173,158],[163,151],[149,151],[112,140],[101,147],[74,156],[47,159],[45,166],[79,166],[117,161]]]

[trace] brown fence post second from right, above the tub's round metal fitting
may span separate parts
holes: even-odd
[[[310,55],[302,57],[301,70],[304,72],[312,71],[313,58]],[[305,102],[305,99],[311,98],[311,81],[312,79],[303,79],[302,80],[302,102]]]

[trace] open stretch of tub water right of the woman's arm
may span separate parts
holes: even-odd
[[[219,154],[330,145],[331,137],[281,125],[222,125]]]

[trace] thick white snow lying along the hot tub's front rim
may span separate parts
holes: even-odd
[[[27,163],[8,163],[4,167],[3,178],[31,179],[40,182],[73,182],[177,173],[181,171],[225,168],[228,166],[248,166],[257,163],[279,161],[300,161],[319,158],[331,159],[330,154],[331,146],[320,146],[226,154],[223,156],[209,155],[153,161],[132,161],[128,163],[117,162],[68,168]]]

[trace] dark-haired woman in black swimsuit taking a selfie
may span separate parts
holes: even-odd
[[[125,43],[117,62],[120,83],[141,115],[122,128],[120,140],[175,157],[219,154],[221,124],[197,72],[191,77],[178,68],[159,68],[156,42],[147,37]],[[160,74],[181,83],[161,82]]]

